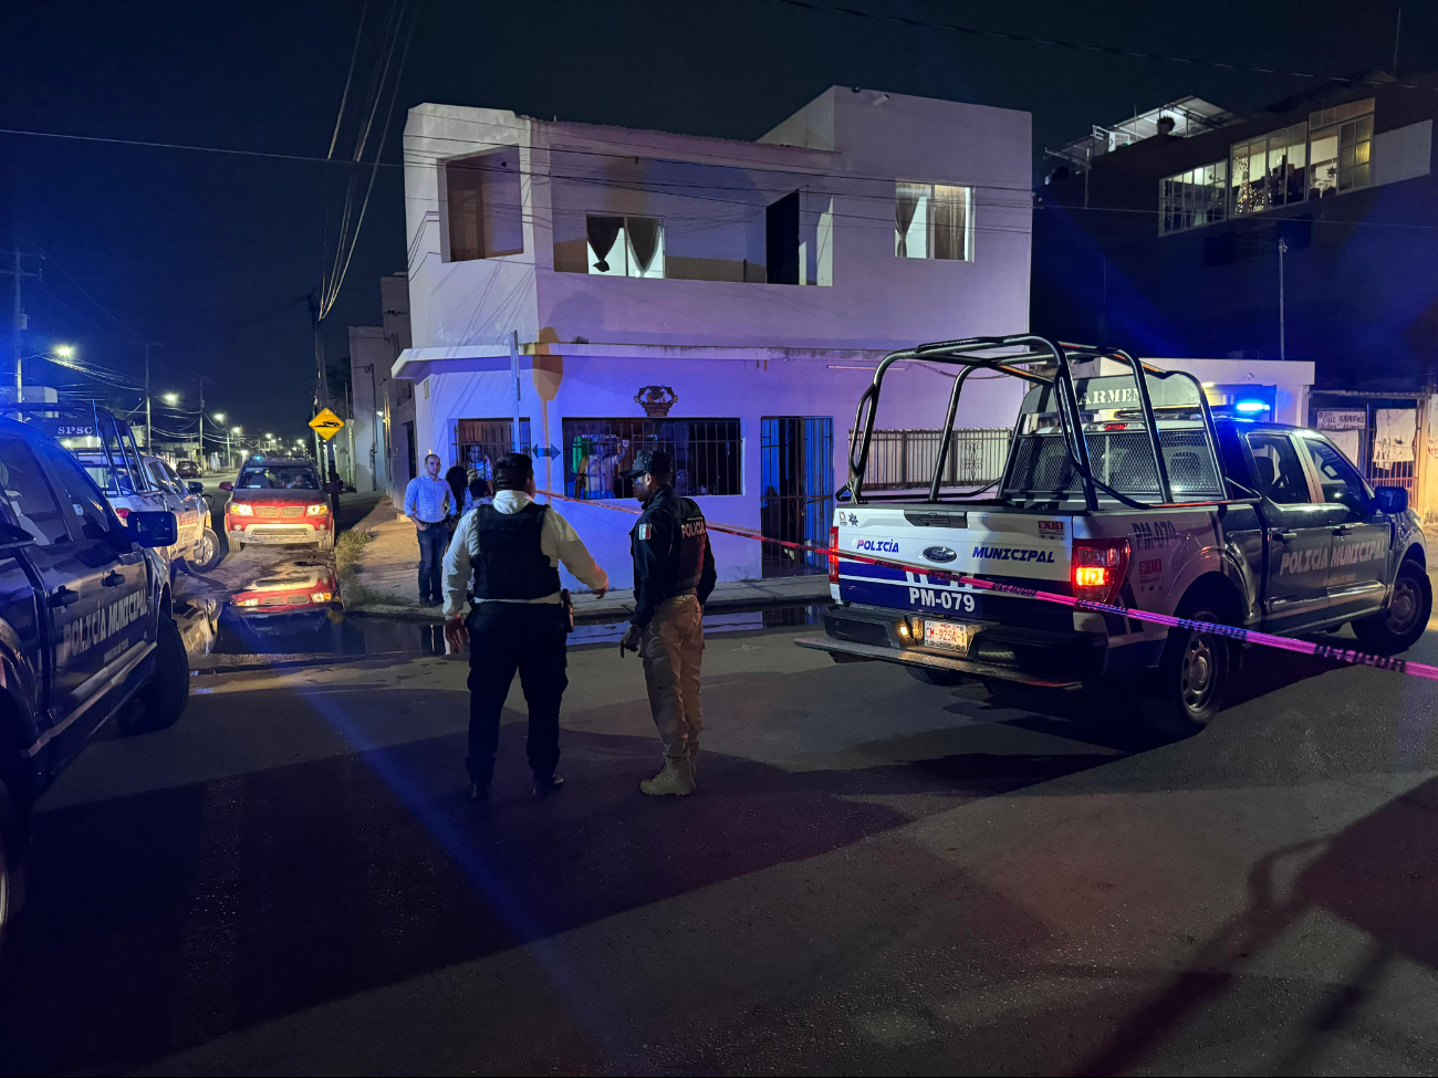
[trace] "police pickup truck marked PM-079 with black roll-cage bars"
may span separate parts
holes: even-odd
[[[867,493],[894,362],[952,371],[926,490]],[[1002,476],[945,489],[968,378],[1027,387]],[[959,469],[962,471],[962,469]],[[1235,642],[966,586],[955,575],[1281,635],[1353,627],[1393,655],[1432,609],[1424,535],[1401,487],[1370,489],[1317,431],[1215,421],[1192,375],[1041,336],[920,345],[883,359],[858,404],[830,529],[825,635],[838,661],[884,660],[933,684],[1139,686],[1160,726],[1221,709]],[[976,489],[975,489],[976,487]]]

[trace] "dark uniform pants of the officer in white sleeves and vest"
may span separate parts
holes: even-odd
[[[509,684],[529,706],[529,768],[546,779],[559,763],[559,701],[569,680],[565,667],[564,608],[549,602],[479,602],[469,615],[469,768],[487,788],[499,747],[499,713]]]

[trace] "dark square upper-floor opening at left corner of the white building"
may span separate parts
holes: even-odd
[[[446,161],[449,260],[522,254],[525,233],[519,190],[519,148]]]

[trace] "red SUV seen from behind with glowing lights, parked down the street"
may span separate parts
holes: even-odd
[[[319,473],[308,460],[250,457],[240,477],[220,483],[230,492],[224,506],[224,533],[232,550],[249,543],[335,549],[335,523],[329,499],[319,489]]]

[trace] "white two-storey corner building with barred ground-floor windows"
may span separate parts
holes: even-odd
[[[824,545],[876,362],[1028,326],[1025,112],[835,88],[739,142],[420,105],[404,147],[414,451],[483,470],[518,427],[617,586],[643,446],[712,522]],[[932,440],[951,384],[896,371],[881,437]],[[975,379],[958,425],[1017,400]],[[713,542],[722,579],[824,562]]]

